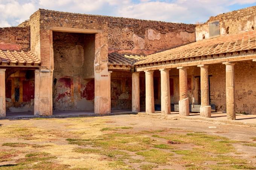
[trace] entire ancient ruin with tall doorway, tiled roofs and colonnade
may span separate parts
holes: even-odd
[[[256,114],[256,6],[204,24],[39,9],[0,28],[0,117]]]

